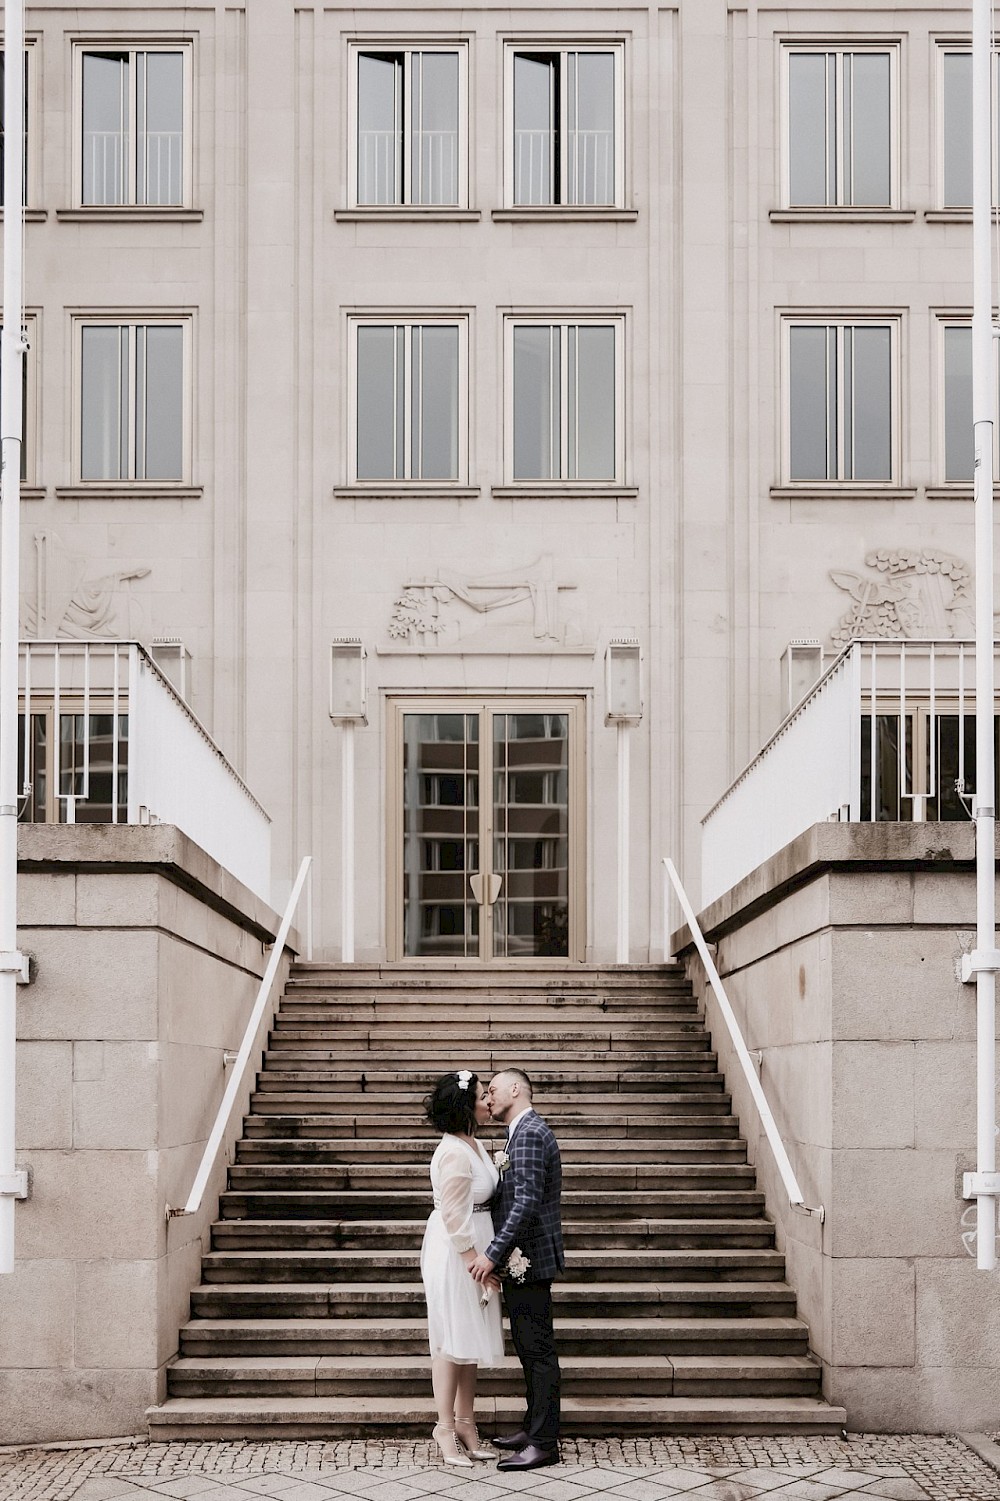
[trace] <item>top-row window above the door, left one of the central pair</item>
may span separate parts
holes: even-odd
[[[462,204],[465,48],[359,48],[353,63],[353,201],[359,207]]]

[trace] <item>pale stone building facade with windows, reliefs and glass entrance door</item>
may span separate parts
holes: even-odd
[[[790,641],[971,633],[965,11],[39,5],[29,38],[26,638],[185,665],[276,890],[317,859],[320,952],[335,639],[357,955],[607,961],[611,639],[643,959]]]

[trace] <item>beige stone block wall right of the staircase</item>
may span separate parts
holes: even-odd
[[[988,1427],[995,1276],[976,1270],[971,829],[821,824],[703,914],[808,1204],[790,1210],[701,964],[719,1066],[824,1390],[853,1429]]]

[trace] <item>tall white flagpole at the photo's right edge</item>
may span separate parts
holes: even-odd
[[[991,0],[973,0],[973,423],[976,441],[976,1246],[977,1265],[997,1262],[995,1184],[995,857],[994,857],[994,663],[992,663],[992,107]]]

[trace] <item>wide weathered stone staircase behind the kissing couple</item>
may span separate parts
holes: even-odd
[[[844,1427],[680,970],[303,964],[153,1438],[429,1433],[420,1102],[509,1063],[563,1156],[565,1432]],[[486,1430],[517,1426],[521,1390],[514,1355],[480,1372]]]

